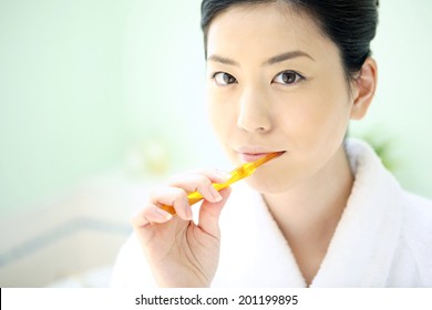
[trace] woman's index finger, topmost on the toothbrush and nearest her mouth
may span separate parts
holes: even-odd
[[[224,183],[226,178],[217,173],[202,170],[196,174],[179,175],[171,178],[169,185],[182,187],[188,193],[198,192],[204,199],[210,203],[222,200],[220,194],[213,187],[213,183]]]

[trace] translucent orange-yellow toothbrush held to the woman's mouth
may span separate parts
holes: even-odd
[[[284,153],[285,152],[270,153],[270,154],[267,154],[266,156],[264,156],[255,162],[245,163],[229,173],[230,177],[227,182],[214,183],[213,187],[215,187],[216,190],[224,189],[224,188],[228,187],[229,185],[232,185],[233,183],[236,183],[240,179],[244,179],[244,178],[250,176],[256,170],[256,168],[264,165],[268,161],[271,161],[276,157],[279,157]],[[191,206],[203,200],[203,199],[204,199],[203,195],[200,195],[198,192],[193,192],[193,193],[187,195],[187,200],[189,202]],[[175,215],[175,209],[172,206],[162,206],[161,208],[168,211],[172,215]]]

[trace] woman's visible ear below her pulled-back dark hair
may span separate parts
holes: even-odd
[[[372,58],[368,58],[353,83],[354,97],[351,110],[352,120],[361,120],[368,112],[377,90],[377,62]]]

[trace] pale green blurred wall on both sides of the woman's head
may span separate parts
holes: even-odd
[[[131,149],[156,145],[164,173],[226,163],[205,115],[199,2],[0,0],[0,216],[124,169]],[[380,6],[379,90],[351,134],[391,141],[394,174],[432,197],[432,2]]]

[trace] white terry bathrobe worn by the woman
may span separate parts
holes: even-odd
[[[310,287],[432,287],[432,202],[404,192],[366,143],[349,140],[346,148],[354,185]],[[233,187],[220,229],[213,287],[307,286],[261,196],[245,183]],[[112,285],[155,286],[134,235]]]

